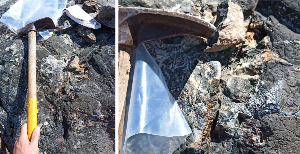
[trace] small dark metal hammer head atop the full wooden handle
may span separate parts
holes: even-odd
[[[46,30],[46,29],[55,29],[55,24],[52,19],[49,17],[41,18],[32,23],[28,23],[25,27],[17,29],[17,34],[19,37],[27,36],[27,33],[31,30],[36,32]]]

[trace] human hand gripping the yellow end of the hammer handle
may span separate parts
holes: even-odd
[[[27,122],[22,125],[21,133],[19,139],[15,142],[13,148],[13,154],[37,154],[38,149],[38,139],[40,137],[41,128],[35,127],[32,132],[31,141],[28,141],[27,136]]]

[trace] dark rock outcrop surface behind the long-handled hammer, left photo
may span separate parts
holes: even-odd
[[[0,1],[0,16],[15,2]],[[68,0],[67,7],[75,4]],[[115,29],[90,29],[95,42],[89,43],[68,16],[61,17],[59,26],[66,30],[56,29],[47,40],[36,42],[39,153],[114,154]],[[28,39],[0,24],[0,154],[12,154],[27,121],[27,61]]]

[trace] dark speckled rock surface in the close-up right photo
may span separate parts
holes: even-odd
[[[183,35],[145,43],[192,130],[173,154],[300,153],[300,2],[191,2],[190,12],[183,12],[214,24],[213,38]],[[121,6],[176,12],[186,3],[118,0]],[[226,28],[230,5],[241,8],[242,17],[231,20],[242,21],[244,37],[227,49],[204,52]]]

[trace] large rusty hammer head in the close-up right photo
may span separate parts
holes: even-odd
[[[151,8],[118,7],[118,47],[123,50],[189,33],[211,38],[215,32],[214,25],[191,15]]]

